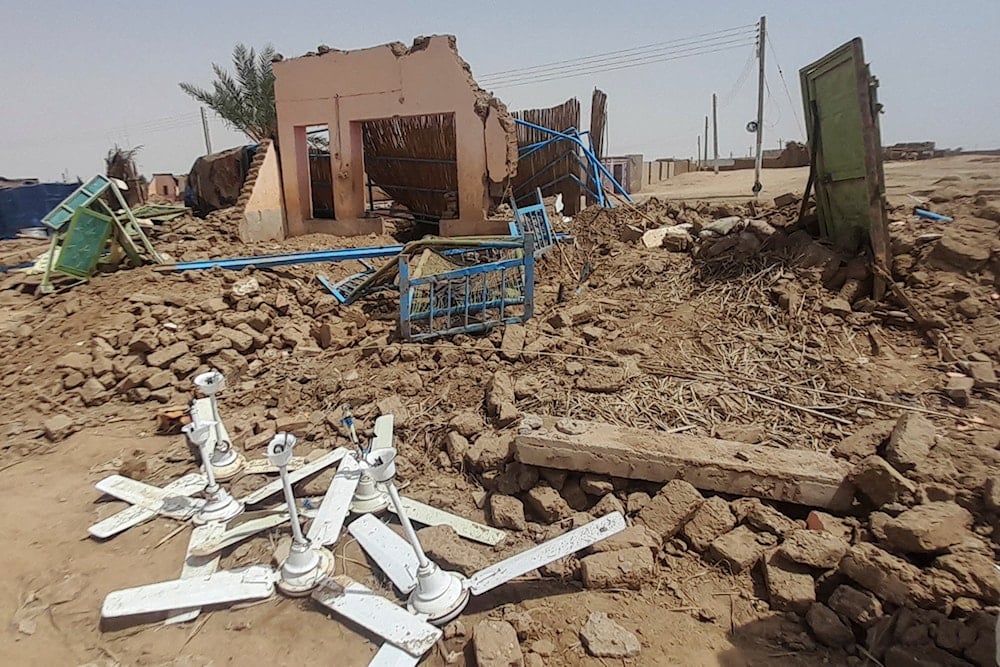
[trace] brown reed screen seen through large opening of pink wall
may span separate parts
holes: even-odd
[[[458,217],[454,114],[369,120],[362,134],[372,184],[417,217]]]

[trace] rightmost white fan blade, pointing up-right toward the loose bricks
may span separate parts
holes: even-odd
[[[589,547],[591,544],[600,542],[624,529],[625,517],[622,516],[621,512],[606,514],[600,519],[476,572],[469,577],[466,585],[473,595],[480,595],[542,565],[576,553],[580,549]]]

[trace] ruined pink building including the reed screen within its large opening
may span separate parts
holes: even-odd
[[[289,236],[380,232],[365,215],[369,184],[441,235],[506,232],[487,216],[517,169],[514,121],[473,80],[453,36],[321,47],[275,62],[274,74]],[[328,159],[311,147],[317,130]]]

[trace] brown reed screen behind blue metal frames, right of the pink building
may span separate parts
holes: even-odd
[[[548,109],[525,109],[515,111],[513,116],[535,125],[541,125],[557,132],[570,128],[580,128],[580,101],[575,97],[559,106]],[[551,139],[551,134],[523,125],[517,126],[518,147],[529,146]],[[563,203],[568,215],[575,215],[580,209],[581,189],[570,175],[580,178],[583,169],[576,146],[569,141],[556,141],[545,148],[535,151],[526,158],[518,159],[517,175],[513,178],[511,188],[515,199],[531,199],[535,188],[542,189],[542,196],[554,196],[557,192],[563,194]]]

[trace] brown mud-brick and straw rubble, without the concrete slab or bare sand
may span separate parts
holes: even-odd
[[[631,518],[624,533],[546,566],[544,576],[596,590],[660,593],[662,584],[677,608],[713,622],[708,605],[680,586],[697,564],[729,577],[758,616],[773,610],[801,622],[777,638],[791,650],[847,651],[858,664],[869,656],[992,664],[998,255],[983,258],[950,228],[933,239],[926,228],[894,228],[895,277],[942,320],[961,356],[940,359],[900,304],[871,300],[863,266],[804,231],[786,235],[797,208],[651,199],[588,209],[573,222],[576,247],[542,260],[535,318],[420,345],[399,341],[388,301],[340,307],[308,266],[142,268],[44,307],[6,293],[17,308],[0,323],[0,354],[23,372],[2,380],[18,409],[0,432],[29,455],[43,438],[58,443],[111,415],[183,404],[191,378],[217,368],[229,383],[221,400],[237,447],[259,450],[278,431],[317,447],[343,444],[345,402],[359,421],[393,414],[400,475],[414,497],[512,531],[506,549],[610,511]],[[227,215],[168,223],[157,247],[185,260],[262,251],[235,243]],[[683,248],[679,231],[662,232],[654,248],[641,240],[686,225]],[[323,271],[335,279],[350,268]],[[898,386],[928,389],[889,384],[905,374]],[[830,451],[850,469],[856,504],[834,515],[680,479],[528,465],[515,455],[528,413]],[[178,465],[169,453],[161,458],[148,468],[175,477]],[[330,474],[301,491],[322,493]],[[488,562],[446,527],[424,529],[421,539],[446,568],[474,572]],[[232,558],[254,562],[248,553]],[[498,664],[488,655],[551,659],[553,642],[525,613],[505,608],[471,632],[481,664]],[[632,633],[599,612],[586,626],[578,630],[592,655],[639,651]]]

